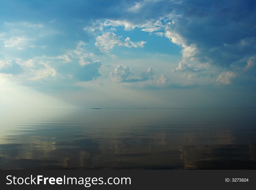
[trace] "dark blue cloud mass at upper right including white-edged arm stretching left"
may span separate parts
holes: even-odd
[[[163,29],[183,48],[184,59],[228,67],[256,52],[255,1],[120,1],[116,6],[119,11],[106,20],[125,29]]]

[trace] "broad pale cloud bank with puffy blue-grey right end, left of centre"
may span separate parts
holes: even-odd
[[[99,68],[102,64],[99,60],[93,61],[93,54],[85,49],[85,45],[80,41],[75,49],[68,50],[66,54],[20,61],[25,70],[23,82],[36,86],[36,81],[40,81],[40,85],[44,84],[46,88],[54,85],[56,88],[69,88],[77,81],[95,80],[101,76]]]

